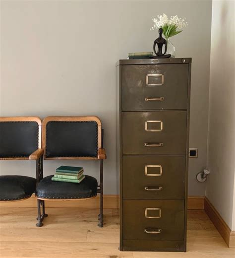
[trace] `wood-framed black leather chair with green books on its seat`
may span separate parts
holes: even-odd
[[[94,116],[47,117],[43,120],[42,135],[44,160],[100,160],[100,185],[88,175],[79,184],[52,181],[53,175],[43,178],[36,189],[39,218],[36,225],[43,226],[42,201],[89,199],[100,193],[98,226],[103,227],[103,160],[106,153],[100,119]]]

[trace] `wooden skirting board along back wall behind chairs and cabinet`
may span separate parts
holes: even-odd
[[[45,201],[46,207],[58,208],[99,208],[100,195],[96,198],[86,200],[58,200],[58,201]],[[37,199],[34,195],[23,201],[0,202],[0,207],[36,207]],[[118,208],[119,195],[104,194],[104,208]],[[188,209],[204,209],[204,196],[189,196]]]

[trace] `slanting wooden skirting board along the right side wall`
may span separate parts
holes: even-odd
[[[229,226],[226,224],[219,212],[215,209],[207,197],[205,197],[204,210],[221,236],[224,238],[228,247],[235,248],[235,231],[232,231],[229,228]]]

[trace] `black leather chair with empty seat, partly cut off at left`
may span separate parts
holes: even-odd
[[[0,176],[1,202],[25,200],[35,192],[42,173],[41,130],[38,117],[0,117],[0,160],[36,160],[36,179]]]

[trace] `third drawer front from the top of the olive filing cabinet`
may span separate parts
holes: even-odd
[[[123,198],[184,198],[185,157],[122,157]]]

